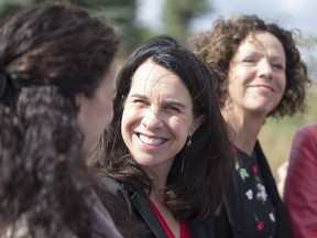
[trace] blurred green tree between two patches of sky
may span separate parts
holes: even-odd
[[[211,11],[208,0],[165,0],[163,22],[165,33],[185,41],[189,23],[194,18]]]

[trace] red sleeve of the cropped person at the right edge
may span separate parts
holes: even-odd
[[[300,128],[295,136],[284,201],[295,237],[317,237],[317,123]]]

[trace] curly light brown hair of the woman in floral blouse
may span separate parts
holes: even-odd
[[[270,32],[278,39],[286,55],[286,88],[273,117],[293,116],[306,109],[306,86],[310,83],[307,66],[300,60],[294,36],[296,31],[287,31],[275,23],[265,23],[256,15],[240,15],[228,21],[218,19],[211,31],[203,32],[189,40],[190,48],[207,64],[217,64],[222,71],[217,94],[220,98],[227,90],[229,65],[241,42],[256,32]]]

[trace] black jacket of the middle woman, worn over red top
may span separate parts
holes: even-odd
[[[101,183],[112,194],[124,199],[133,219],[145,225],[147,229],[139,236],[140,238],[167,238],[144,192],[124,190],[121,184],[109,177],[101,178]],[[188,220],[188,225],[194,238],[215,238],[211,218],[204,221]]]

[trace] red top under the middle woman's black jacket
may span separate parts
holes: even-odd
[[[157,209],[155,204],[151,201],[150,197],[149,197],[149,201],[150,201],[150,204],[153,207],[155,215],[157,216],[163,229],[165,230],[167,238],[175,238],[174,234],[170,229],[168,225],[166,224],[166,220],[164,219],[164,217],[162,216],[162,214],[160,213],[160,210]],[[186,223],[186,220],[181,221],[181,238],[193,238],[192,231],[190,231],[189,226]]]

